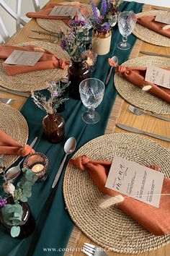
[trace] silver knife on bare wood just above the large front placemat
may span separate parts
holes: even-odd
[[[144,131],[141,131],[140,129],[136,129],[136,128],[133,128],[133,127],[128,127],[125,124],[116,124],[116,125],[117,125],[117,127],[120,127],[121,129],[125,129],[128,132],[140,133],[141,135],[148,135],[148,136],[151,136],[151,137],[159,139],[159,140],[165,140],[167,142],[170,142],[170,138],[167,138],[167,137],[164,137],[164,136],[161,136],[161,135],[155,135],[155,134],[150,133],[150,132],[144,132]]]

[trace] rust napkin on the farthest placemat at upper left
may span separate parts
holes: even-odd
[[[84,7],[82,4],[80,4],[78,1],[70,4],[64,4],[64,3],[50,3],[47,4],[45,9],[40,10],[39,12],[28,12],[26,14],[27,17],[29,18],[40,18],[40,19],[51,19],[51,20],[63,20],[68,26],[69,26],[69,21],[70,19],[66,16],[50,16],[50,12],[52,11],[53,7],[55,6],[70,6],[70,7],[80,7],[80,12],[81,14],[85,14],[86,17],[86,12],[87,9]]]

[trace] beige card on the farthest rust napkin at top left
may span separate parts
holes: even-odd
[[[71,16],[74,17],[76,12],[78,12],[78,7],[65,7],[65,6],[56,6],[53,7],[53,10],[50,12],[49,16]]]

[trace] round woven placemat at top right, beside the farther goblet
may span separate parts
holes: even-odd
[[[164,14],[165,16],[167,16],[169,14],[169,12],[156,10],[156,11],[149,11],[149,12],[140,12],[136,15],[137,15],[137,17],[143,17],[146,15],[155,15],[155,14]],[[156,46],[170,47],[170,40],[168,37],[158,34],[155,31],[150,30],[147,27],[144,27],[143,25],[138,24],[138,22],[135,25],[133,34],[137,38],[139,38],[147,43],[152,43],[152,44],[155,44]]]

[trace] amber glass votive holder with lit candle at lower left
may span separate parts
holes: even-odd
[[[24,168],[31,169],[38,176],[38,182],[44,182],[48,174],[48,158],[42,153],[27,155],[23,162]]]

